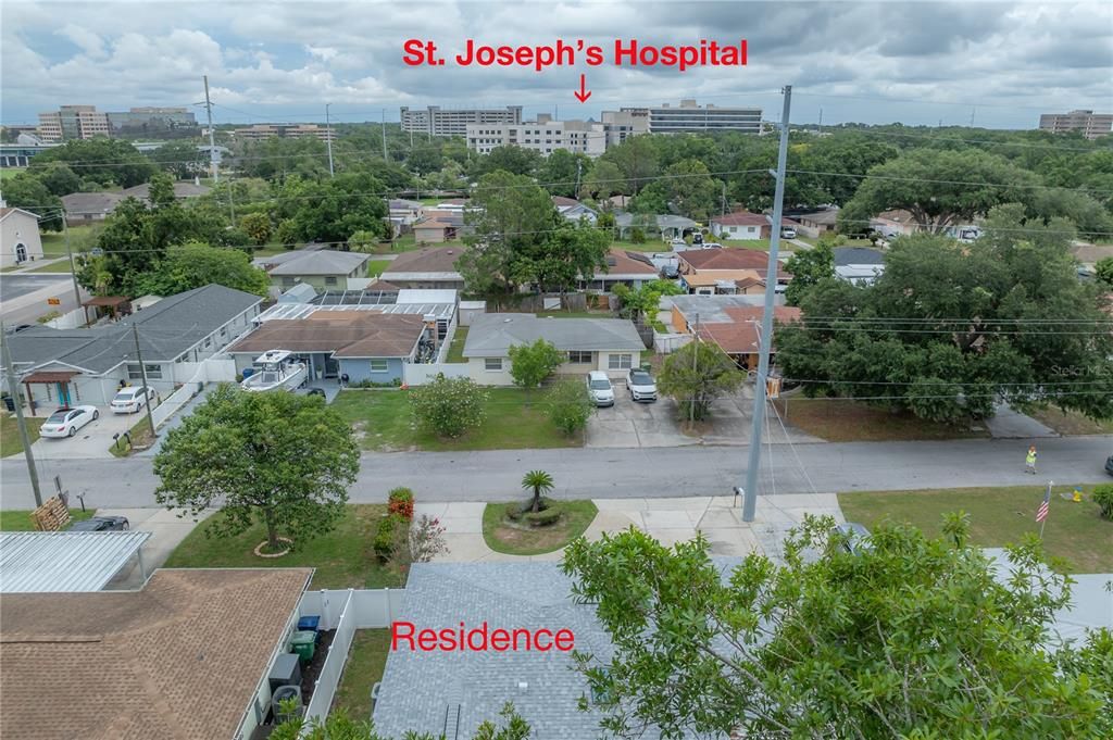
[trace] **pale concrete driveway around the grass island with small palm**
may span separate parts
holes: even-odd
[[[599,540],[604,532],[631,526],[664,545],[684,542],[702,532],[715,555],[748,555],[751,552],[779,558],[785,534],[804,521],[805,514],[830,515],[844,521],[835,494],[778,494],[758,499],[754,522],[743,522],[741,500],[732,496],[686,499],[597,499],[599,514],[584,532]],[[439,519],[445,527],[449,552],[441,562],[556,561],[563,550],[541,555],[508,555],[495,552],[483,540],[482,502],[418,503],[414,514]]]

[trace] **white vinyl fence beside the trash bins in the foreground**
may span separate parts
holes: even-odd
[[[347,591],[308,591],[302,596],[298,614],[321,616],[319,629],[336,630],[328,654],[313,687],[313,697],[305,710],[306,724],[324,721],[333,706],[336,687],[344,675],[348,650],[356,630],[388,628],[401,613],[404,589]],[[367,687],[370,692],[372,687]]]

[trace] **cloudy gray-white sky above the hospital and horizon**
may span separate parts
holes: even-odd
[[[1096,2],[341,2],[3,0],[3,122],[92,103],[194,105],[209,76],[217,122],[397,120],[398,106],[523,105],[526,114],[695,97],[792,120],[1034,128],[1041,111],[1113,110],[1113,3]],[[412,68],[407,39],[450,53],[467,39],[749,45],[745,68]],[[572,91],[580,72],[593,90]],[[201,109],[198,108],[198,118]]]

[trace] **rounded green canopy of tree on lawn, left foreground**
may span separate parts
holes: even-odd
[[[218,507],[208,530],[218,536],[262,522],[272,549],[335,526],[359,470],[352,427],[317,396],[224,384],[164,434],[155,500],[194,514]]]

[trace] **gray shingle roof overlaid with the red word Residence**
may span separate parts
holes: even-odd
[[[558,319],[554,319],[558,320]],[[560,319],[571,320],[571,319]],[[718,562],[718,559],[717,559]],[[722,564],[740,561],[723,559]],[[609,660],[612,648],[594,608],[570,598],[571,580],[556,563],[415,563],[406,582],[402,614],[415,629],[570,629],[575,649]],[[520,683],[525,683],[522,689]],[[591,740],[607,737],[601,714],[577,707],[588,694],[570,652],[420,652],[392,651],[378,701],[375,729],[387,737],[406,731],[440,737],[449,711],[459,736],[470,738],[486,719],[498,719],[506,701],[530,722],[532,740]],[[646,740],[658,738],[650,728]]]

